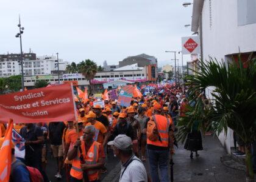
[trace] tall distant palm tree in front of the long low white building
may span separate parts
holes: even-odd
[[[91,61],[90,59],[86,59],[85,61],[82,61],[79,64],[77,64],[77,67],[79,69],[79,73],[82,73],[82,75],[85,76],[85,79],[89,81],[90,93],[92,93],[91,79],[93,79],[97,73],[97,64],[94,61]]]

